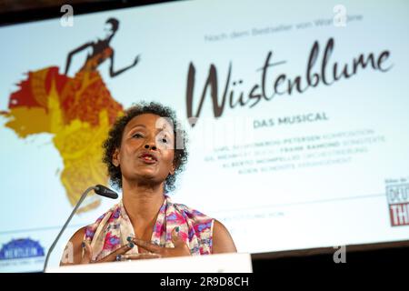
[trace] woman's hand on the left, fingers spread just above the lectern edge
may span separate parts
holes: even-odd
[[[159,258],[160,255],[157,254],[136,254],[136,255],[125,255],[130,249],[132,249],[135,245],[131,242],[126,244],[125,246],[121,246],[120,248],[116,249],[114,252],[109,254],[108,256],[104,256],[100,260],[93,260],[93,249],[88,241],[83,242],[83,248],[85,250],[84,256],[81,259],[80,264],[94,264],[94,263],[106,263],[106,262],[115,262],[115,261],[123,261],[123,260],[140,260],[145,258]]]

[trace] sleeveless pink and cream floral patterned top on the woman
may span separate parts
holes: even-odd
[[[176,226],[179,226],[179,236],[189,246],[193,256],[212,254],[214,218],[185,205],[174,204],[169,196],[165,196],[156,219],[151,243],[174,247],[172,231]],[[135,236],[134,227],[126,214],[122,200],[100,216],[94,224],[85,228],[85,240],[91,243],[94,260],[99,260],[127,244],[128,236]],[[126,254],[138,254],[138,247],[133,247]]]

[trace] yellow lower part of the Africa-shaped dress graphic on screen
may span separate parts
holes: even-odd
[[[86,188],[108,182],[105,165],[101,161],[102,143],[110,127],[108,116],[106,110],[102,110],[99,113],[99,125],[96,127],[79,119],[64,125],[63,112],[54,86],[48,96],[48,108],[51,131],[55,134],[53,142],[64,163],[61,182],[71,205],[74,206]],[[86,202],[88,205],[79,208],[78,213],[99,206],[101,199],[94,196],[91,201]]]

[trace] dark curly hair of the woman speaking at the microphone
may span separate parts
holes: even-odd
[[[106,138],[103,148],[104,156],[103,162],[107,166],[108,176],[111,181],[111,185],[117,189],[122,189],[122,172],[120,166],[114,166],[112,163],[112,158],[115,153],[116,148],[121,147],[122,135],[124,134],[125,126],[137,115],[143,114],[154,114],[161,117],[167,118],[169,121],[173,122],[174,126],[174,136],[175,136],[175,174],[168,175],[165,179],[165,193],[169,193],[175,190],[176,176],[178,176],[185,169],[185,164],[187,162],[187,135],[185,130],[177,122],[175,111],[170,107],[161,105],[159,103],[151,102],[145,103],[140,102],[136,105],[131,106],[125,111],[125,114],[119,117],[113,127],[110,129],[108,138]],[[180,126],[180,127],[178,127]],[[178,141],[176,142],[176,139]],[[182,143],[182,146],[178,146]],[[182,147],[182,148],[180,148]]]

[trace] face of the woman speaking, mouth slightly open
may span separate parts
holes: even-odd
[[[137,115],[125,126],[113,164],[121,167],[122,183],[160,184],[175,173],[174,130],[159,115]]]

